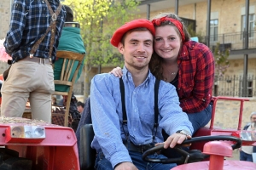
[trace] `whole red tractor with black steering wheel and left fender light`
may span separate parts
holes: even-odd
[[[241,101],[240,116],[237,129],[223,129],[213,127],[215,108],[218,99]],[[176,150],[181,153],[177,159],[150,160],[148,155],[156,150],[162,150],[162,145],[144,152],[145,161],[179,162],[178,169],[210,169],[210,170],[236,170],[256,169],[256,164],[249,161],[228,161],[224,156],[232,156],[232,150],[241,145],[256,145],[252,133],[241,131],[241,118],[244,101],[248,99],[217,97],[213,102],[212,122],[210,127],[202,127],[192,139],[183,144],[192,143],[189,152]],[[79,170],[93,169],[96,152],[90,148],[93,139],[91,124],[81,129],[83,137],[80,139],[80,159],[77,139],[73,129],[61,127],[45,122],[24,118],[0,118],[0,161],[1,166],[15,169],[44,169],[44,170]],[[247,134],[247,139],[241,139]],[[249,136],[248,136],[249,135]],[[5,168],[5,167],[3,167]],[[8,169],[8,168],[5,168]],[[16,168],[18,169],[18,168]]]

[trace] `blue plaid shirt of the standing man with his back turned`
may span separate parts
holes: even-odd
[[[53,11],[58,8],[59,0],[48,0]],[[62,27],[66,19],[65,9],[62,7],[56,20],[55,43],[52,59],[55,60],[56,48],[61,37]],[[32,46],[43,37],[49,27],[51,15],[44,1],[15,0],[12,7],[10,29],[5,38],[4,47],[13,58],[13,62],[29,56]],[[50,31],[40,43],[35,57],[49,58]]]

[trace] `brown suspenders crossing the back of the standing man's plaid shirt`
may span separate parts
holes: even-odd
[[[30,51],[30,58],[33,57],[33,55],[36,53],[39,44],[44,40],[44,37],[48,34],[48,32],[51,30],[51,34],[50,34],[50,42],[49,42],[49,61],[51,61],[51,54],[52,54],[52,50],[53,50],[53,46],[54,46],[54,42],[55,42],[55,28],[56,28],[56,20],[57,20],[57,16],[60,14],[61,12],[61,8],[62,5],[61,3],[59,4],[58,8],[56,9],[55,13],[53,12],[52,8],[49,5],[48,0],[44,0],[44,2],[47,4],[47,7],[49,9],[49,14],[51,14],[51,21],[49,24],[49,27],[47,28],[46,32],[44,33],[44,35],[42,37],[40,37],[38,39],[38,41],[33,45],[32,50]]]

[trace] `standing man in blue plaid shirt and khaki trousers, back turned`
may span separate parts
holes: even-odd
[[[1,89],[2,116],[21,117],[29,99],[32,118],[51,122],[51,94],[55,90],[51,62],[55,62],[65,18],[59,0],[14,1],[4,42],[12,65]]]

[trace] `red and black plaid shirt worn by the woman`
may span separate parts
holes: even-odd
[[[177,63],[177,94],[186,113],[203,111],[212,99],[214,58],[211,50],[199,42],[184,42]]]

